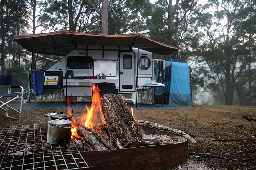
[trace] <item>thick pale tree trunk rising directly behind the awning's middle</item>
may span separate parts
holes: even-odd
[[[108,0],[102,1],[101,10],[101,34],[108,35]]]

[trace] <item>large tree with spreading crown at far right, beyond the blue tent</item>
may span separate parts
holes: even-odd
[[[235,91],[243,100],[252,69],[249,63],[255,63],[255,2],[212,0],[210,4],[216,10],[212,26],[204,27],[207,40],[198,55],[219,80],[225,104],[232,105]]]

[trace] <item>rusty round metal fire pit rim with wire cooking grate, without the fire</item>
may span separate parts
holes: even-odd
[[[143,127],[144,134],[178,138],[174,144],[81,152],[71,141],[46,142],[44,124],[4,127],[0,133],[0,169],[169,169],[187,160],[188,140]]]

